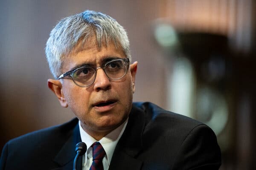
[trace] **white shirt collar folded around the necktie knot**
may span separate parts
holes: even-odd
[[[125,122],[122,123],[119,127],[108,133],[106,136],[104,136],[102,139],[99,140],[99,143],[102,144],[102,147],[104,148],[108,164],[110,164],[114,150],[116,148],[116,144],[121,138],[125,127],[127,125],[128,119],[125,120]],[[92,136],[90,136],[88,133],[84,131],[84,129],[81,127],[81,122],[79,120],[79,131],[81,136],[81,141],[84,142],[87,146],[87,150],[94,142],[97,142],[96,139],[94,139]],[[87,153],[85,154],[87,155]]]

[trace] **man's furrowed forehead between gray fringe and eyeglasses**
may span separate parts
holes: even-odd
[[[80,65],[101,66],[108,58],[125,58],[122,48],[116,47],[113,43],[102,45],[101,48],[95,41],[87,42],[86,46],[82,42],[65,57],[62,64],[62,71],[69,71]]]

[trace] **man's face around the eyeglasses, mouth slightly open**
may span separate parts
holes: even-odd
[[[73,52],[65,59],[62,72],[70,71],[78,65],[90,64],[101,67],[106,59],[125,58],[122,50],[114,45],[88,45],[80,52]],[[121,125],[131,111],[134,93],[134,81],[137,62],[130,65],[125,77],[110,80],[105,72],[99,68],[95,82],[89,87],[77,86],[71,78],[62,80],[61,94],[68,107],[81,121],[83,129],[91,136],[105,134]]]

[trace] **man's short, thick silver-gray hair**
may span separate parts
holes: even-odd
[[[112,17],[87,10],[60,20],[50,33],[45,53],[55,79],[62,74],[64,58],[80,41],[84,44],[92,37],[95,37],[99,48],[113,43],[116,48],[122,48],[126,57],[131,60],[125,29]]]

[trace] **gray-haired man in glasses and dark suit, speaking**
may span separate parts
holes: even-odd
[[[78,142],[82,170],[217,170],[221,153],[201,122],[132,103],[137,62],[126,31],[108,15],[84,11],[51,31],[48,86],[76,119],[12,139],[0,170],[71,170]],[[98,153],[96,153],[98,151]]]

